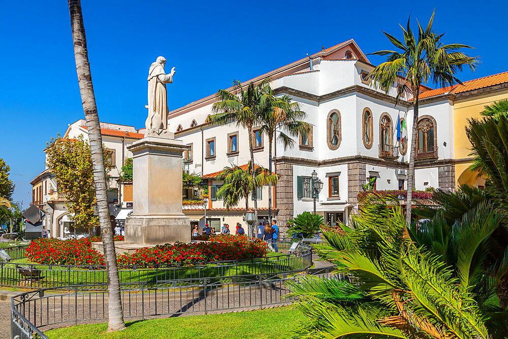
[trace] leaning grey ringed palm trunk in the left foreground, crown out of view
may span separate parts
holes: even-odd
[[[80,0],[68,0],[71,16],[72,38],[74,43],[74,57],[78,73],[79,91],[83,102],[83,111],[88,129],[88,139],[93,165],[93,180],[96,187],[97,207],[101,225],[106,274],[108,280],[108,332],[125,329],[123,310],[120,298],[120,281],[116,265],[113,230],[109,219],[106,171],[102,148],[101,127],[97,104],[93,94],[93,85],[86,49],[85,28],[81,13]]]

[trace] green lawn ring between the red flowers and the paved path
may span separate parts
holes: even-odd
[[[281,256],[281,253],[268,252],[267,257]],[[260,262],[263,262],[263,258],[253,259],[252,261],[243,261],[241,265],[235,267],[228,267],[227,265],[209,264],[203,265],[200,268],[196,267],[182,267],[179,269],[150,269],[140,268],[137,270],[119,270],[120,282],[155,282],[155,281],[168,281],[178,279],[192,279],[198,276],[208,276],[213,278],[215,276],[231,276],[231,275],[252,275],[259,274]],[[5,267],[14,267],[13,263],[20,264],[34,264],[28,259],[14,260]],[[49,270],[48,265],[38,265],[37,268],[44,269],[41,279],[38,283],[34,282],[34,286],[39,287],[52,287],[49,282],[52,281],[65,281],[64,285],[84,285],[84,284],[104,284],[106,283],[106,274],[104,270],[76,270],[73,269],[71,272],[62,269],[58,266],[52,266]],[[298,269],[296,261],[283,261],[283,262],[269,262],[269,264],[263,264],[263,273],[280,272],[280,271],[292,271]],[[46,271],[47,270],[47,271]],[[8,285],[17,285],[19,277],[13,272],[4,272],[4,280],[8,280],[4,283]]]

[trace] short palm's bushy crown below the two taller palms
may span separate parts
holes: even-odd
[[[249,170],[245,170],[240,166],[231,164],[231,167],[225,167],[216,177],[215,180],[224,180],[223,186],[217,191],[217,197],[224,198],[224,204],[229,210],[232,206],[237,206],[240,199],[245,199],[245,210],[249,210],[249,199],[252,194],[253,187],[263,187],[277,183],[277,175],[261,166],[254,166],[254,181],[250,172],[250,162],[247,164]]]

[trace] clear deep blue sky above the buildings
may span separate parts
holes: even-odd
[[[171,110],[322,45],[353,38],[365,53],[390,48],[381,29],[400,37],[398,24],[405,25],[409,13],[426,25],[434,8],[434,27],[446,33],[444,40],[473,46],[470,54],[481,57],[478,70],[460,79],[508,71],[508,6],[502,1],[82,0],[81,5],[100,119],[136,128],[144,124],[147,71],[158,55],[168,59],[167,71],[177,67]],[[14,200],[27,207],[29,182],[44,169],[46,141],[84,116],[67,2],[1,2],[0,46],[0,158],[11,166]]]

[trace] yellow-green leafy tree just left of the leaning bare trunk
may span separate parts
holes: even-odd
[[[46,156],[46,165],[56,178],[58,191],[67,199],[70,219],[79,227],[100,226],[99,218],[93,215],[97,198],[90,146],[83,135],[77,139],[51,138],[46,145]]]

